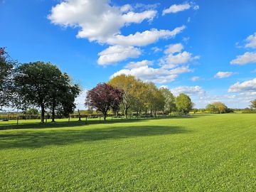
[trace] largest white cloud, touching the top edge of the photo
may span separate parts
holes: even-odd
[[[123,26],[151,21],[157,13],[154,10],[135,13],[131,9],[129,5],[111,6],[110,0],[66,0],[53,6],[48,19],[56,25],[78,27],[78,38],[105,43]]]

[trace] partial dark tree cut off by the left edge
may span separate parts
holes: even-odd
[[[9,106],[13,98],[12,85],[15,65],[16,61],[10,58],[5,48],[0,48],[0,110],[4,106]]]

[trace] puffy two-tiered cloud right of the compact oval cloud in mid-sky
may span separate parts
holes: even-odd
[[[193,56],[192,53],[182,50],[181,43],[167,46],[164,51],[166,55],[161,58],[162,68],[175,68],[177,65],[186,64],[199,58],[199,56]]]

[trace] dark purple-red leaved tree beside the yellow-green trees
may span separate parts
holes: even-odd
[[[102,112],[104,120],[106,120],[107,112],[110,109],[117,109],[117,106],[122,102],[122,98],[122,90],[107,83],[99,83],[92,90],[87,91],[85,105]]]

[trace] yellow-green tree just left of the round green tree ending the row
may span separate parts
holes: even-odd
[[[164,95],[164,111],[165,112],[174,112],[176,110],[176,104],[175,104],[175,97],[174,95],[171,93],[170,90],[161,87],[159,89],[162,93],[162,95]]]

